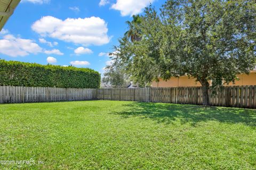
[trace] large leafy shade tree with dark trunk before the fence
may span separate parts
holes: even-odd
[[[209,80],[213,87],[234,82],[255,66],[255,24],[254,0],[169,0],[159,14],[146,8],[142,39],[120,39],[115,61],[135,81],[194,77],[209,105]]]

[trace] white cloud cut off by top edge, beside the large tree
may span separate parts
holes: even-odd
[[[143,8],[154,1],[155,0],[117,0],[117,2],[113,4],[111,8],[120,11],[122,16],[132,16],[141,13]]]

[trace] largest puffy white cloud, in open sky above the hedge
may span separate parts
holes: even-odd
[[[34,22],[32,29],[41,36],[49,36],[85,46],[103,45],[110,41],[110,37],[107,35],[107,23],[95,16],[66,20],[44,16]]]

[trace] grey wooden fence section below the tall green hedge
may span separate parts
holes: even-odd
[[[96,89],[0,86],[0,103],[97,99]]]

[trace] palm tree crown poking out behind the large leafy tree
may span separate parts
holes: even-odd
[[[132,15],[132,21],[126,21],[125,23],[128,25],[129,30],[125,32],[125,36],[130,39],[132,42],[141,40],[141,18],[139,15]]]

